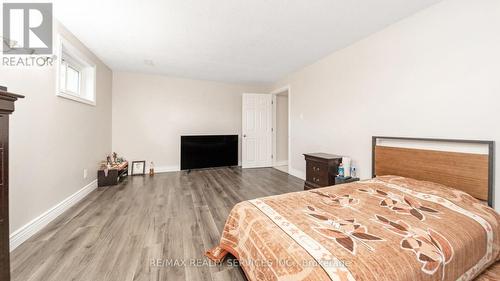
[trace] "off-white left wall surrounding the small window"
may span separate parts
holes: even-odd
[[[55,66],[0,66],[0,85],[26,96],[10,126],[11,233],[94,181],[111,151],[111,70],[64,27],[55,31],[97,65],[97,106],[57,97]]]

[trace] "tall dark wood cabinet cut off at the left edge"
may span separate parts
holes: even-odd
[[[22,96],[0,87],[0,280],[10,280],[9,249],[9,115]]]

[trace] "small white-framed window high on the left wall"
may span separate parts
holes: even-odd
[[[95,105],[95,65],[60,38],[57,95]]]

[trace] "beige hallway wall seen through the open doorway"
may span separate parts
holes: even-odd
[[[288,92],[276,95],[276,161],[288,161]]]

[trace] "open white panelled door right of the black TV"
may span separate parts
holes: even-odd
[[[243,94],[242,104],[242,167],[271,167],[272,95]]]

